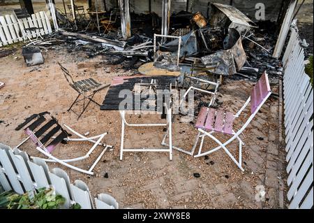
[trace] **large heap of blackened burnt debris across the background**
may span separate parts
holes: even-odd
[[[105,13],[98,27],[94,15],[77,17],[75,23],[57,11],[61,29],[33,43],[43,50],[84,52],[87,58],[103,55],[106,64],[122,69],[154,62],[156,69],[204,75],[207,80],[221,75],[256,81],[262,71],[268,71],[270,79],[281,78],[281,63],[271,57],[276,36],[269,29],[275,30],[276,24],[255,24],[237,8],[220,3],[209,9],[209,19],[200,12],[173,13],[168,36],[155,36],[161,31],[156,13],[130,13],[133,36],[128,39],[121,35],[117,9]]]

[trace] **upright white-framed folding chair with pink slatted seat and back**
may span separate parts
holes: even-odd
[[[230,112],[225,112],[223,110],[216,110],[214,108],[206,108],[202,107],[200,110],[200,113],[197,117],[197,122],[195,124],[195,127],[199,131],[195,145],[193,147],[192,153],[194,153],[194,150],[196,148],[196,145],[198,143],[198,140],[201,138],[200,142],[200,148],[198,150],[198,154],[194,157],[202,157],[204,155],[211,154],[212,152],[215,152],[217,150],[220,150],[220,148],[223,148],[227,155],[234,161],[235,164],[241,169],[241,171],[244,171],[244,168],[242,168],[242,145],[244,143],[241,141],[241,138],[239,138],[239,135],[246,129],[248,124],[253,120],[255,115],[257,114],[258,110],[262,107],[262,105],[267,101],[268,97],[271,95],[271,89],[269,85],[268,75],[265,72],[260,80],[256,83],[256,85],[253,87],[251,91],[251,96],[248,98],[246,103],[244,103],[244,106],[239,110],[239,112],[236,115],[233,115]],[[251,102],[251,116],[248,117],[248,120],[246,123],[239,129],[237,132],[233,130],[233,122],[234,119],[239,117],[243,110],[248,106],[248,103]],[[227,140],[225,143],[221,143],[218,138],[213,136],[214,133],[220,133],[220,134],[227,134],[232,136],[229,140]],[[202,147],[204,143],[205,136],[208,136],[213,141],[215,141],[218,144],[218,147],[211,149],[207,152],[202,152]],[[230,144],[234,139],[239,141],[239,161],[234,158],[234,156],[230,153],[229,150],[227,150],[226,146]]]

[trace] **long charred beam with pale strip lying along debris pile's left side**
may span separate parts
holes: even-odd
[[[114,41],[111,40],[109,38],[102,38],[102,37],[96,37],[96,36],[88,36],[86,34],[77,34],[77,33],[73,33],[70,31],[64,31],[64,30],[59,30],[59,33],[62,34],[63,36],[72,36],[72,37],[76,37],[76,38],[80,38],[84,41],[90,41],[93,43],[105,43],[105,44],[109,44],[109,45],[115,45],[115,46],[119,46],[121,48],[124,48],[126,46],[126,42],[124,41]]]

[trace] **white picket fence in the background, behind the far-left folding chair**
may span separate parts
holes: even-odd
[[[17,21],[15,15],[4,15],[0,16],[0,47],[2,45],[8,45],[25,41],[27,38],[22,36],[21,28],[38,27],[40,29],[40,35],[51,34],[52,28],[50,25],[49,18],[44,11],[35,13],[29,18],[24,18]],[[36,33],[31,33],[32,38],[36,38]]]

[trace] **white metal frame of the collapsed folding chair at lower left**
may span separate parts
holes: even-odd
[[[17,145],[15,148],[19,148],[21,145],[23,145],[25,142],[27,142],[29,140],[29,138],[31,138],[31,137],[37,138],[39,146],[36,147],[36,150],[38,150],[39,152],[43,153],[46,157],[49,158],[49,159],[43,159],[44,161],[47,161],[47,162],[57,162],[59,164],[62,164],[63,166],[66,166],[68,168],[72,168],[75,171],[79,171],[81,173],[86,173],[86,174],[89,174],[89,175],[94,175],[94,173],[92,171],[95,168],[95,166],[98,164],[98,161],[100,161],[101,157],[103,157],[103,154],[105,154],[105,152],[107,151],[108,148],[112,148],[112,145],[105,145],[104,143],[100,143],[100,141],[102,141],[103,138],[107,135],[107,132],[105,132],[104,134],[100,134],[98,136],[93,136],[93,137],[87,138],[87,137],[82,136],[81,134],[77,133],[76,131],[74,131],[73,129],[68,127],[66,124],[63,124],[63,125],[69,131],[73,132],[73,134],[75,134],[76,136],[79,137],[79,138],[69,138],[69,137],[68,138],[64,138],[64,141],[89,141],[90,143],[94,143],[94,145],[91,147],[89,152],[87,152],[87,154],[85,154],[82,157],[76,157],[76,158],[72,158],[72,159],[58,159],[57,157],[54,157],[52,154],[50,154],[50,152],[48,152],[46,150],[45,146],[42,143],[40,143],[38,138],[32,132],[31,132],[31,134],[32,134],[31,136],[29,136],[26,139],[24,139],[24,141],[22,141],[22,143]],[[94,141],[95,139],[97,139],[97,141]],[[91,165],[89,170],[84,170],[82,168],[78,168],[76,166],[68,164],[68,163],[73,162],[73,161],[80,161],[80,160],[83,160],[83,159],[87,159],[91,155],[91,152],[94,152],[94,150],[96,149],[97,145],[103,146],[104,149],[100,153],[100,155],[97,157],[97,159],[94,161],[94,163]],[[33,159],[33,158],[36,158],[36,157],[31,157],[31,159]]]

